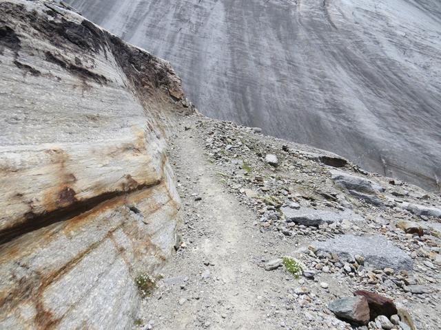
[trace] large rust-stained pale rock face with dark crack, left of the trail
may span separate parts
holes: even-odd
[[[0,12],[0,328],[130,327],[134,278],[174,245],[180,80],[49,2]]]

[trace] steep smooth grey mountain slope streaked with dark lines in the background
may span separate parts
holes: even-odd
[[[438,0],[68,0],[173,63],[214,118],[439,189]]]

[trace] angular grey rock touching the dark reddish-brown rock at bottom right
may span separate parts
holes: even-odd
[[[334,300],[328,308],[340,319],[356,325],[369,322],[369,305],[363,296],[347,297]]]

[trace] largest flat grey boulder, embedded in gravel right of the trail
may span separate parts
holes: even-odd
[[[411,257],[383,236],[340,235],[327,241],[312,243],[318,251],[335,253],[342,260],[362,256],[365,264],[378,269],[411,270]]]

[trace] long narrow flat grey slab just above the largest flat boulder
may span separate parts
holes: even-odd
[[[324,223],[341,223],[344,220],[351,222],[362,221],[362,217],[351,210],[345,210],[344,212],[316,210],[314,208],[300,208],[296,210],[290,207],[283,207],[280,210],[283,212],[287,222],[294,222],[299,225],[319,226]]]

